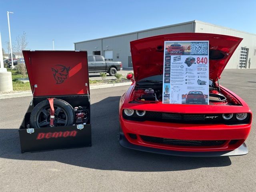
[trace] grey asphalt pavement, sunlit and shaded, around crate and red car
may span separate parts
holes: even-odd
[[[220,83],[256,113],[256,70]],[[256,191],[255,117],[245,156],[186,158],[122,148],[118,104],[128,86],[91,90],[92,147],[21,154],[18,127],[30,97],[0,100],[0,191]]]

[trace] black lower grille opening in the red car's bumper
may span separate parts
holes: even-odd
[[[140,135],[140,138],[146,142],[159,143],[166,145],[176,145],[176,146],[220,146],[223,145],[226,140],[178,140],[160,137],[151,137]]]

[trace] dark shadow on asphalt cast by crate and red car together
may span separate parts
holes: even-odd
[[[118,142],[120,96],[91,105],[92,147],[21,154],[17,129],[0,129],[0,157],[58,161],[100,170],[136,172],[190,170],[231,165],[229,157],[191,158],[151,154],[122,148]]]

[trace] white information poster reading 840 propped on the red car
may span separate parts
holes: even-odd
[[[209,104],[209,41],[164,42],[166,104]]]

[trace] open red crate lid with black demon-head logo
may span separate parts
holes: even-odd
[[[23,56],[34,96],[90,94],[86,51],[23,51]]]

